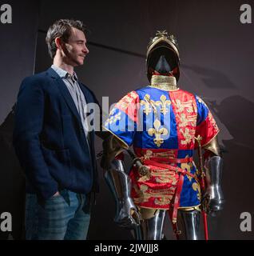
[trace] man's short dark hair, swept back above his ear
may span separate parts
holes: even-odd
[[[84,34],[86,32],[85,25],[79,20],[75,21],[73,19],[60,19],[54,22],[52,26],[50,26],[46,35],[46,44],[48,46],[51,58],[54,58],[58,50],[54,42],[55,38],[59,37],[62,38],[64,42],[68,42],[72,27],[76,28],[77,30],[83,31]]]

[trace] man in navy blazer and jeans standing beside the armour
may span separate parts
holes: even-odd
[[[22,81],[14,148],[26,173],[26,239],[85,239],[89,198],[97,192],[94,130],[85,118],[97,103],[75,66],[89,50],[82,22],[62,19],[47,32],[53,65]]]

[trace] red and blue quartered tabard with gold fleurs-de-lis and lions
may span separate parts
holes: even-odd
[[[137,206],[168,210],[177,194],[178,208],[200,205],[198,170],[192,161],[200,135],[205,146],[219,129],[208,106],[185,90],[161,90],[146,86],[121,98],[109,114],[105,129],[132,146],[149,174],[141,176],[133,167],[132,198]],[[181,196],[180,196],[181,195]],[[176,198],[175,198],[176,199]]]

